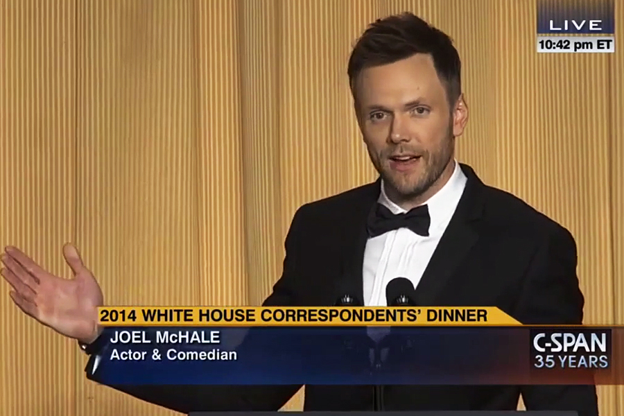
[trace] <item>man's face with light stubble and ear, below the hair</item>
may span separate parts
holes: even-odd
[[[370,159],[397,203],[429,198],[453,169],[454,137],[467,121],[462,99],[449,107],[430,55],[362,71],[356,112]]]

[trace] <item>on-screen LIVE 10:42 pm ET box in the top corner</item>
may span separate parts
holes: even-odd
[[[615,52],[614,0],[537,0],[537,51]]]

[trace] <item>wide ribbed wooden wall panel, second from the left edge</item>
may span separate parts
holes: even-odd
[[[74,239],[109,304],[200,303],[194,10],[174,3],[76,3]],[[78,415],[171,413],[87,381],[73,352]]]

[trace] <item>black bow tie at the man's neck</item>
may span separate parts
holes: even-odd
[[[392,214],[390,209],[377,204],[370,211],[367,228],[370,238],[399,228],[408,228],[419,236],[428,236],[430,223],[431,218],[426,205],[410,209],[405,214]]]

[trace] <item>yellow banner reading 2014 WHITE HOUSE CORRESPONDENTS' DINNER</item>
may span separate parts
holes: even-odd
[[[105,306],[104,327],[420,327],[510,326],[521,323],[495,307]]]

